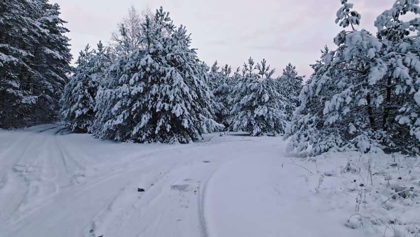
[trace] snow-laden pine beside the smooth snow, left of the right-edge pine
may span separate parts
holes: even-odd
[[[378,147],[380,138],[371,126],[372,96],[377,86],[368,83],[370,68],[378,68],[375,58],[382,44],[369,32],[355,30],[360,15],[351,10],[352,4],[341,0],[336,23],[342,31],[334,39],[339,46],[325,57],[325,66],[312,77],[300,95],[302,105],[286,128],[284,139],[290,138],[288,150],[310,155],[331,149],[368,151]],[[370,55],[367,52],[370,52]],[[316,107],[323,105],[323,110]],[[315,108],[315,110],[314,110]]]

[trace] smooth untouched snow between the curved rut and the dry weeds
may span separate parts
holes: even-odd
[[[211,217],[210,236],[357,236],[344,228],[346,212],[335,204],[331,208],[329,198],[315,196],[313,177],[296,165],[282,168],[282,162],[295,160],[273,151],[258,150],[216,170],[207,190],[212,197],[207,199],[206,212]]]

